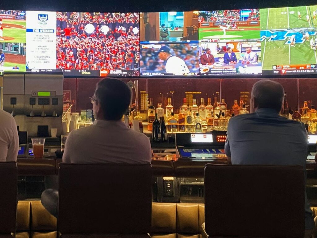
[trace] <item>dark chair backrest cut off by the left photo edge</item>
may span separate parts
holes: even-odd
[[[15,232],[16,205],[16,162],[0,162],[0,234]]]

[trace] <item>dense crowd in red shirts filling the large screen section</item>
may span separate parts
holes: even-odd
[[[57,12],[56,69],[139,69],[139,13]]]

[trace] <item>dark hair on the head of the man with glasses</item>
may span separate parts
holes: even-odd
[[[95,96],[105,120],[120,120],[129,107],[131,91],[121,80],[105,78],[97,83]]]

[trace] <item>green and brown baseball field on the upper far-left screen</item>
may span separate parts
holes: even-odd
[[[26,21],[2,19],[3,39],[0,42],[26,43]]]

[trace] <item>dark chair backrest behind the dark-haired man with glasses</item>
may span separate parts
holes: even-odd
[[[150,164],[60,164],[61,234],[147,234],[151,212]]]

